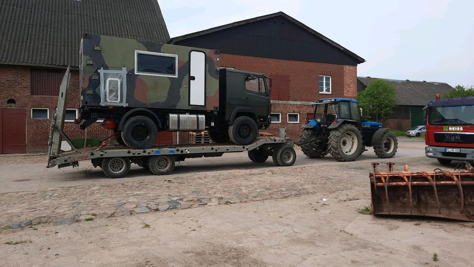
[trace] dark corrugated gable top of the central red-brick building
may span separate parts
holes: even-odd
[[[290,60],[344,65],[365,62],[354,52],[281,11],[173,37],[169,43]]]

